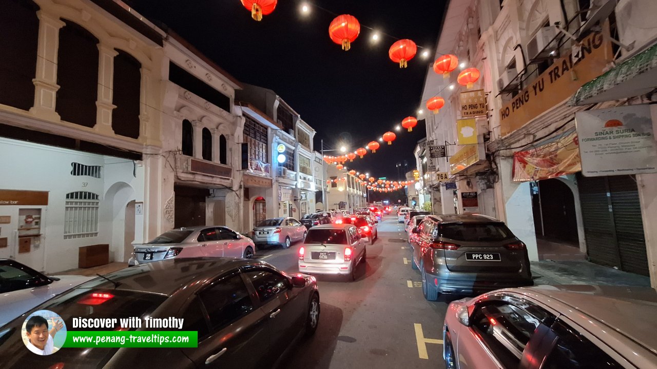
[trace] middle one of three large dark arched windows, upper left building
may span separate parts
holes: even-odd
[[[96,125],[98,39],[70,20],[59,30],[57,113],[64,121]]]

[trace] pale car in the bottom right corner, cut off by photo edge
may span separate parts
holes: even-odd
[[[453,301],[447,368],[656,368],[657,294],[650,288],[538,286]]]

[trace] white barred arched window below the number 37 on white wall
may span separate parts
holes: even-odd
[[[66,194],[64,239],[98,236],[99,196],[93,192]]]

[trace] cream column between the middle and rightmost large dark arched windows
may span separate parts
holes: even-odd
[[[116,108],[116,105],[112,104],[114,91],[114,56],[118,55],[118,52],[103,43],[99,43],[97,46],[99,51],[98,99],[96,100],[96,125],[93,129],[113,135],[112,110]]]

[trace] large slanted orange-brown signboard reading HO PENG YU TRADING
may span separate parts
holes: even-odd
[[[516,131],[543,112],[564,102],[579,87],[604,72],[608,62],[614,60],[608,27],[591,33],[563,58],[555,60],[545,72],[530,82],[516,97],[501,108],[501,135]]]

